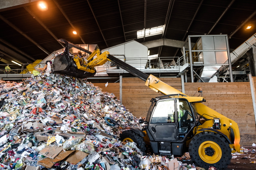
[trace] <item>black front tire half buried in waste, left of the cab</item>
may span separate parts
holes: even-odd
[[[125,138],[132,139],[133,142],[135,142],[137,147],[140,149],[141,152],[145,155],[146,147],[144,138],[141,137],[139,134],[135,133],[132,130],[125,130],[120,134],[119,140],[123,141]]]

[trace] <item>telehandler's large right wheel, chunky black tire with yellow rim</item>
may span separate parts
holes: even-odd
[[[211,142],[214,143],[211,144]],[[215,146],[215,148],[217,149],[213,149],[208,145],[213,145],[212,147]],[[218,152],[218,150],[220,152]],[[196,164],[196,166],[200,166],[205,169],[208,169],[209,166],[214,166],[219,170],[226,169],[230,164],[230,159],[232,158],[231,149],[225,138],[222,137],[220,134],[209,131],[198,133],[195,137],[192,138],[189,144],[189,155],[191,160]],[[216,161],[215,163],[214,160]],[[211,161],[212,163],[209,163]]]

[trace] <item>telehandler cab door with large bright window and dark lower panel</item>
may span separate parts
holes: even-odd
[[[174,141],[177,139],[177,106],[175,99],[158,100],[148,129],[156,141]]]

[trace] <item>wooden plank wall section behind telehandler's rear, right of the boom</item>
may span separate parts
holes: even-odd
[[[255,117],[250,82],[185,83],[185,94],[193,96],[202,87],[204,104],[238,123],[240,144],[256,142]],[[195,96],[198,96],[197,92]]]

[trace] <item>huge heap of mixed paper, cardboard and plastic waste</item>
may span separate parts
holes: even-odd
[[[0,82],[1,169],[199,168],[173,156],[144,156],[136,143],[119,141],[123,128],[142,128],[139,119],[113,93],[86,79],[52,74],[51,67],[49,62],[46,71],[33,71],[22,82]]]

